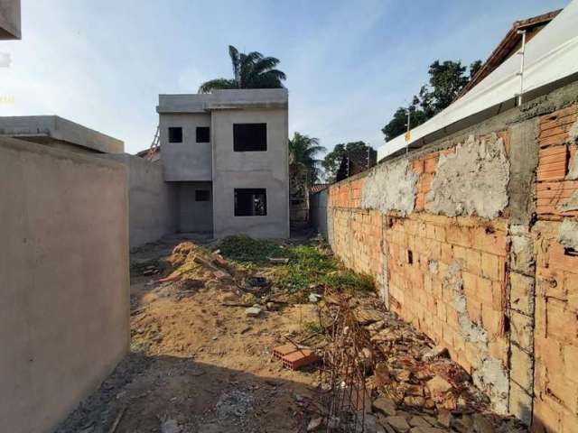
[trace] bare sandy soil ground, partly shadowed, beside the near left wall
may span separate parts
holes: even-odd
[[[144,275],[147,263],[170,255],[180,242],[172,236],[132,254],[131,353],[57,432],[306,431],[319,374],[284,369],[271,351],[287,336],[309,335],[316,306],[289,303],[250,318],[245,308],[223,305],[231,299],[230,281],[208,276],[191,290]]]

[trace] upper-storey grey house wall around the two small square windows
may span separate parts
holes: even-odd
[[[164,179],[201,181],[212,179],[211,143],[196,143],[197,126],[210,126],[210,114],[161,114],[161,147]],[[182,143],[169,143],[169,127],[182,127]]]

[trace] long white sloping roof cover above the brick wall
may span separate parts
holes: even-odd
[[[567,5],[527,43],[523,70],[522,95],[578,72],[578,0]],[[426,143],[428,135],[455,126],[471,116],[484,112],[495,115],[504,108],[514,106],[520,93],[519,71],[520,56],[511,56],[451,106],[412,129],[409,142],[402,134],[381,146],[378,161],[406,146],[419,147]],[[496,109],[491,110],[493,107]],[[467,124],[461,126],[466,127]],[[448,133],[459,129],[461,127],[453,127]]]

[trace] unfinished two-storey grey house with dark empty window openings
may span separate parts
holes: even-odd
[[[180,231],[289,236],[287,106],[284,88],[159,96],[161,161],[179,189]]]

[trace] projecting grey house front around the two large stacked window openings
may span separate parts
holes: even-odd
[[[233,152],[233,124],[266,123],[266,152]],[[211,116],[215,237],[289,236],[289,163],[286,108],[218,110]],[[235,217],[234,189],[265,188],[267,215]]]

